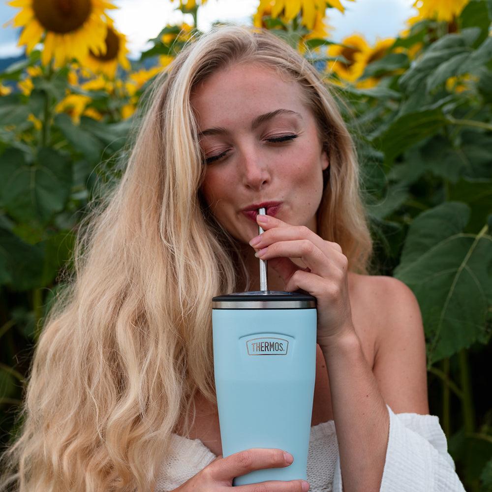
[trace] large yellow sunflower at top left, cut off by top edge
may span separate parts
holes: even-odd
[[[89,51],[105,52],[105,10],[116,8],[107,0],[12,0],[22,10],[14,17],[14,27],[23,27],[18,46],[27,53],[42,42],[41,62],[54,60],[56,67],[75,58],[83,60]]]

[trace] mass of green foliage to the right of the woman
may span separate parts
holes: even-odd
[[[375,89],[345,91],[377,263],[419,301],[431,411],[469,491],[492,490],[491,6],[470,1],[455,32],[420,22],[394,44],[422,43],[413,59],[389,52],[362,77]]]

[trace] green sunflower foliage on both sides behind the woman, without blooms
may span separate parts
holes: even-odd
[[[338,91],[347,101],[340,108],[363,166],[374,263],[408,284],[419,301],[431,411],[441,419],[470,492],[492,491],[491,20],[492,2],[471,0],[452,26],[420,21],[384,57],[367,64],[355,84]],[[307,35],[296,20],[264,22],[293,46]],[[184,39],[179,28],[168,26],[152,41],[142,54],[146,63],[174,55]],[[330,44],[307,39],[309,60],[323,68],[332,59]],[[10,67],[0,81],[24,80],[38,57]],[[5,432],[13,428],[31,346],[57,275],[94,190],[115,174],[115,154],[131,123],[121,118],[123,98],[68,80],[68,68],[44,69],[31,77],[29,96],[16,91],[0,97]],[[102,119],[57,111],[67,90],[89,95]]]

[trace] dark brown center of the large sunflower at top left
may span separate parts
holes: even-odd
[[[76,31],[89,18],[92,0],[32,0],[32,10],[47,31]]]

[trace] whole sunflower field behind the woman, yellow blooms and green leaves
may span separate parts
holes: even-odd
[[[162,0],[165,1],[165,0]],[[171,0],[169,0],[171,1]],[[174,0],[138,60],[111,0],[11,0],[26,56],[0,72],[0,439],[91,203],[118,179],[145,89],[207,0]],[[208,0],[210,2],[214,0]],[[342,0],[348,1],[348,0]],[[339,0],[259,0],[251,24],[324,74],[355,137],[375,273],[415,293],[438,415],[467,491],[492,491],[492,0],[419,0],[407,29],[334,39]],[[357,8],[357,0],[351,4]]]

